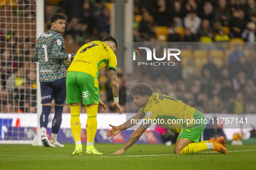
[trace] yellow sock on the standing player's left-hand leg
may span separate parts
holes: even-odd
[[[73,134],[73,138],[75,142],[81,141],[81,123],[80,123],[80,109],[81,105],[78,106],[71,106],[70,107],[70,113],[71,113],[71,119],[70,119],[70,125],[71,125],[71,131]]]

